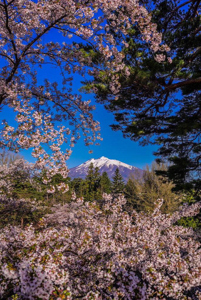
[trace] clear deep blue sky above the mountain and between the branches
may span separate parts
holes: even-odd
[[[61,34],[56,31],[51,32],[50,35],[46,35],[48,41],[66,41],[68,38],[64,38]],[[67,43],[73,41],[73,38]],[[2,64],[2,60],[1,64]],[[1,66],[2,67],[2,66]],[[43,85],[44,78],[48,78],[50,82],[57,81],[60,84],[59,70],[51,68],[49,65],[45,65],[42,69],[38,70],[38,84]],[[73,92],[78,93],[78,88],[80,88],[82,77],[79,75],[73,75]],[[101,137],[103,141],[100,142],[100,146],[91,146],[94,153],[88,153],[88,147],[84,146],[82,137],[78,143],[72,148],[73,153],[69,160],[67,161],[68,167],[75,167],[90,158],[99,158],[105,156],[110,159],[116,159],[122,161],[126,164],[142,168],[145,164],[150,164],[154,160],[152,152],[157,149],[157,146],[138,146],[138,143],[134,143],[129,139],[124,139],[122,137],[122,132],[115,132],[109,127],[113,123],[113,114],[108,113],[103,105],[96,104],[93,95],[82,94],[83,100],[91,100],[91,104],[96,105],[96,112],[94,113],[94,119],[100,122]],[[15,114],[9,109],[3,110],[1,113],[1,120],[7,119],[8,124],[14,125]],[[63,123],[62,123],[63,124]],[[68,127],[67,124],[63,124]],[[22,154],[27,161],[34,162],[34,158],[31,156],[32,149],[24,150]]]

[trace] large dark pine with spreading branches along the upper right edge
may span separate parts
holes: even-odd
[[[199,191],[201,6],[200,1],[181,2],[143,1],[163,43],[170,46],[170,51],[164,52],[165,63],[155,60],[157,54],[148,51],[141,42],[141,32],[134,26],[127,36],[128,45],[122,49],[129,73],[126,77],[119,71],[118,92],[111,91],[111,82],[103,76],[103,70],[93,82],[83,82],[82,90],[96,88],[96,101],[114,113],[117,123],[111,125],[113,130],[122,130],[124,137],[140,140],[141,145],[160,145],[155,154],[158,161],[168,159],[172,163],[163,175],[174,182],[177,190]],[[93,54],[91,46],[82,48],[90,52],[94,65],[101,64],[101,53]],[[173,58],[172,63],[168,57]],[[175,97],[177,92],[179,99]]]

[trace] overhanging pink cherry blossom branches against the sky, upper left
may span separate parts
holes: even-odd
[[[3,0],[0,15],[0,55],[5,59],[0,75],[0,105],[16,112],[18,124],[14,128],[3,120],[0,146],[15,152],[33,148],[38,165],[49,166],[44,182],[56,173],[66,177],[66,160],[80,137],[79,131],[87,146],[96,138],[101,140],[99,123],[92,116],[95,107],[72,93],[72,74],[97,76],[104,68],[116,93],[116,72],[122,70],[125,76],[129,73],[118,46],[126,46],[125,37],[133,24],[140,29],[150,51],[169,47],[161,44],[156,25],[136,0]],[[62,44],[44,42],[51,30],[63,35]],[[72,36],[102,54],[99,69],[93,67],[91,56],[79,50],[78,44],[68,44]],[[156,60],[161,61],[164,55],[158,52]],[[37,82],[37,70],[44,64],[59,68],[61,83],[50,82],[45,76],[43,85]],[[56,127],[57,122],[66,121],[73,127],[71,131],[63,125]],[[63,143],[68,144],[65,151],[61,150]]]

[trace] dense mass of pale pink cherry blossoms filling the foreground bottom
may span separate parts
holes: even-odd
[[[201,203],[161,214],[126,212],[124,196],[57,205],[40,232],[8,226],[1,235],[2,298],[200,299],[201,244],[173,226]],[[57,226],[50,227],[50,225]]]

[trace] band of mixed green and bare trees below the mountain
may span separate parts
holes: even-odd
[[[19,158],[21,157],[15,156],[12,153],[8,153],[6,158],[2,155],[0,165],[7,164],[9,167]],[[139,174],[138,172],[131,173],[128,181],[125,182],[118,168],[116,168],[112,180],[110,180],[106,171],[100,175],[99,168],[94,167],[93,163],[91,163],[85,179],[80,177],[74,179],[67,177],[63,179],[60,174],[56,174],[52,177],[51,182],[47,184],[44,184],[42,181],[43,171],[33,176],[30,182],[28,180],[29,174],[26,175],[24,170],[15,169],[12,178],[9,179],[13,184],[12,193],[7,196],[12,196],[15,199],[23,198],[35,201],[39,209],[25,211],[24,204],[21,202],[17,206],[16,204],[15,206],[12,204],[9,207],[8,205],[5,206],[2,202],[0,203],[0,223],[3,226],[8,222],[14,225],[23,222],[24,224],[30,222],[36,223],[54,205],[64,205],[71,202],[72,193],[75,193],[77,198],[83,197],[84,201],[102,199],[103,193],[113,193],[114,195],[123,193],[127,199],[127,208],[131,210],[135,209],[138,212],[144,211],[145,213],[152,211],[154,203],[161,197],[164,199],[160,208],[161,212],[170,214],[177,211],[179,206],[184,202],[192,204],[199,201],[200,196],[195,196],[193,190],[175,192],[173,191],[174,184],[172,182],[167,181],[161,175],[156,175],[156,171],[165,171],[167,167],[166,164],[153,162],[150,166],[147,165],[144,167],[143,174]],[[6,176],[8,177],[8,175]],[[24,180],[26,177],[27,179]],[[67,192],[63,193],[62,190],[58,189],[60,182],[68,184],[69,190]],[[54,193],[49,192],[51,185],[55,187]],[[2,187],[1,189],[3,191]],[[178,221],[178,225],[193,228],[200,227],[200,215],[181,218]]]

